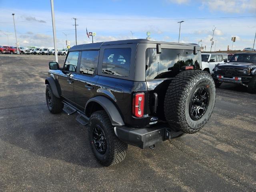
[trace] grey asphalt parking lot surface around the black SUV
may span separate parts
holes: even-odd
[[[0,191],[256,191],[256,94],[245,87],[222,84],[197,134],[129,146],[122,163],[102,167],[86,126],[48,111],[50,60],[0,55]]]

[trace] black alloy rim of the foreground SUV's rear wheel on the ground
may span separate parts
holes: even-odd
[[[105,154],[107,150],[107,140],[102,128],[96,124],[93,128],[93,143],[100,154]]]

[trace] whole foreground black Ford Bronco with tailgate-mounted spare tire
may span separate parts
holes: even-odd
[[[104,165],[124,160],[128,144],[154,148],[198,132],[215,104],[214,80],[196,44],[120,40],[73,46],[64,66],[49,62],[46,102],[53,114],[78,113]]]

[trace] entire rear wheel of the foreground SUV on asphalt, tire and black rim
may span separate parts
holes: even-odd
[[[88,138],[94,156],[103,166],[112,166],[124,160],[128,145],[116,136],[104,110],[90,116]]]

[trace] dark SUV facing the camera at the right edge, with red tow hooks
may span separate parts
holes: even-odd
[[[236,53],[230,62],[217,64],[213,71],[216,87],[222,82],[242,84],[248,92],[256,93],[256,52]]]

